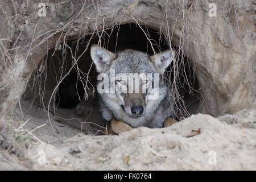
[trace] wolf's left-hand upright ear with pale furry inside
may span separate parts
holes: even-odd
[[[90,57],[92,57],[93,63],[96,65],[97,72],[103,73],[106,71],[111,61],[117,58],[117,55],[93,44],[92,47],[90,47]]]

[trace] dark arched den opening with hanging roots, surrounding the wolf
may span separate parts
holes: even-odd
[[[68,135],[77,131],[88,135],[104,134],[101,131],[106,121],[101,117],[100,101],[95,98],[97,72],[90,58],[92,44],[100,44],[112,52],[130,48],[152,55],[153,48],[156,52],[168,49],[170,41],[152,28],[124,24],[68,40],[49,49],[31,76],[19,104],[23,121],[30,120],[28,127],[31,130],[45,133],[52,129],[55,134],[66,132]],[[177,118],[183,119],[197,113],[199,86],[193,65],[178,47],[172,46],[179,56],[175,66],[171,64],[166,70],[165,78],[175,96],[175,105],[179,110]],[[77,109],[81,102],[85,105]],[[46,131],[44,127],[47,126]]]

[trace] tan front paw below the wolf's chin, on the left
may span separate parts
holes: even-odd
[[[130,131],[132,129],[133,128],[130,125],[127,125],[125,122],[118,121],[116,119],[112,119],[107,126],[109,135],[119,135],[125,131]]]

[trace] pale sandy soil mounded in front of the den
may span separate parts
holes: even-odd
[[[36,110],[24,117],[30,118],[24,129],[47,122],[43,110]],[[35,130],[31,137],[38,141],[30,143],[26,158],[29,169],[255,170],[255,113],[242,110],[218,119],[197,114],[168,128],[141,127],[119,136],[85,135],[52,119],[57,137],[49,123]]]

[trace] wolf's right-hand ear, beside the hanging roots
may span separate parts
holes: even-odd
[[[174,60],[174,52],[171,49],[160,52],[156,55],[149,57],[152,63],[154,63],[155,68],[158,69],[159,73],[163,75],[166,68]]]

